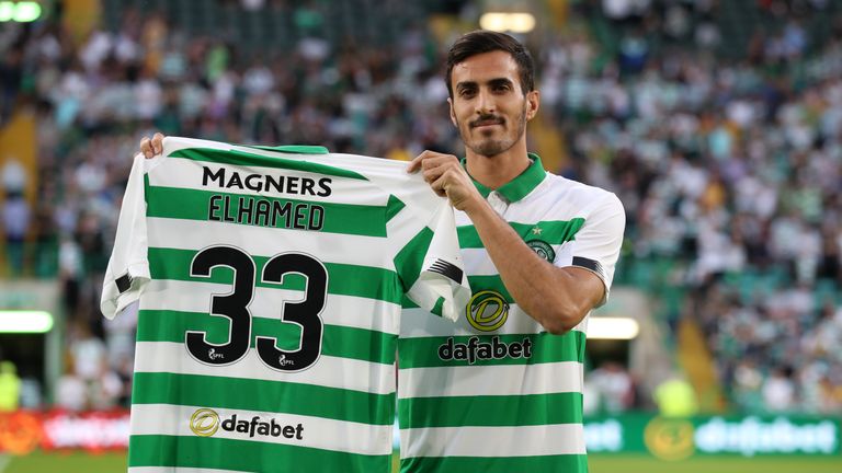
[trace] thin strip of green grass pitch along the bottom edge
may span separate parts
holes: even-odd
[[[395,471],[398,464],[395,455]],[[592,454],[591,473],[840,473],[842,457],[698,457],[664,462],[646,455]],[[35,452],[0,455],[0,473],[116,473],[126,471],[125,453]]]

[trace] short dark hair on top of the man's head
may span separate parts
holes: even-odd
[[[496,50],[509,53],[514,58],[521,76],[521,89],[524,95],[535,89],[535,64],[530,51],[517,39],[508,34],[478,30],[464,34],[447,51],[447,72],[444,80],[447,82],[447,93],[451,99],[453,99],[453,85],[451,84],[453,67],[471,56]]]

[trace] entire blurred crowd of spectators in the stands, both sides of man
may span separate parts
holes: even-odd
[[[842,16],[821,1],[759,2],[764,15],[798,3],[801,16],[775,16],[780,31],[758,30],[740,59],[722,60],[718,2],[621,3],[580,2],[570,27],[525,37],[542,111],[566,143],[565,164],[551,171],[624,203],[617,284],[637,284],[635,267],[672,262],[669,278],[689,297],[668,319],[703,327],[731,405],[839,412]],[[303,3],[294,18],[311,24],[321,5]],[[811,43],[809,15],[835,15],[826,43]],[[594,16],[616,44],[594,33]],[[98,301],[140,137],[318,143],[400,160],[460,150],[442,81],[455,30],[442,38],[421,23],[384,48],[331,43],[301,25],[292,48],[244,51],[156,11],[127,10],[122,24],[81,41],[60,25],[0,34],[0,125],[34,111],[39,176],[31,204],[5,183],[20,184],[19,170],[3,170],[0,212],[5,277],[57,276],[62,286],[71,330],[57,402],[68,408],[128,399],[135,321],[104,321]],[[690,44],[670,48],[679,38]],[[628,392],[624,373],[603,371],[602,402],[633,405],[610,394]]]

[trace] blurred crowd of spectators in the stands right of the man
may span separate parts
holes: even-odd
[[[626,269],[670,262],[656,280],[689,290],[669,315],[704,330],[733,407],[838,413],[842,16],[827,2],[760,7],[780,31],[758,28],[735,61],[706,53],[709,32],[691,35],[695,49],[662,45],[642,62],[624,62],[621,48],[596,73],[596,45],[554,49],[555,109],[573,152],[562,173],[621,197]],[[804,26],[817,14],[831,15],[822,42]],[[646,37],[662,20],[649,10],[626,31]]]

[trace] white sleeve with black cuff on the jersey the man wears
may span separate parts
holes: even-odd
[[[596,307],[608,300],[614,269],[623,245],[623,232],[626,227],[626,214],[623,204],[614,194],[606,194],[587,223],[576,234],[572,245],[571,266],[593,272],[605,285],[605,295]]]

